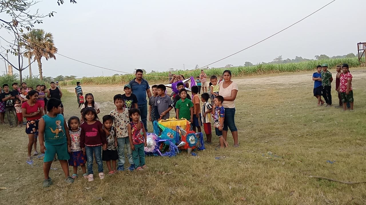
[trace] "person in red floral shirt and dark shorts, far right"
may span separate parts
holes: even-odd
[[[348,64],[342,65],[343,73],[340,75],[339,92],[343,102],[343,110],[347,109],[347,102],[350,102],[350,110],[353,111],[353,91],[352,91],[352,75],[350,73]]]

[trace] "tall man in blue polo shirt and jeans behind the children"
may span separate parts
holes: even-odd
[[[143,123],[143,126],[145,127],[145,130],[147,132],[147,100],[146,100],[146,94],[147,97],[151,97],[151,91],[149,82],[147,82],[143,77],[143,71],[141,69],[136,70],[136,77],[134,80],[130,81],[130,85],[132,88],[132,93],[136,95],[137,97],[137,105],[138,109],[141,112],[141,121]]]

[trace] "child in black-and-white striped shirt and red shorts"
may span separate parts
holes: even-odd
[[[209,95],[208,93],[203,93],[201,95],[202,104],[202,123],[203,123],[203,130],[206,133],[206,143],[212,143],[212,130],[211,130],[211,114],[212,113],[212,105],[208,102]]]

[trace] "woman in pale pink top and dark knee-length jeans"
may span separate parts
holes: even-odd
[[[238,85],[231,80],[231,71],[225,70],[223,73],[224,81],[219,84],[219,95],[224,97],[222,105],[225,109],[225,118],[223,126],[223,137],[226,140],[228,135],[228,128],[231,131],[234,139],[234,147],[239,147],[238,144],[238,129],[235,126],[235,98],[238,94]]]

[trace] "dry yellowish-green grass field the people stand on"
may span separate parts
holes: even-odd
[[[309,178],[366,182],[366,70],[355,70],[354,112],[317,107],[311,73],[235,79],[240,90],[239,148],[232,147],[228,135],[227,149],[206,146],[196,151],[198,156],[182,152],[173,158],[146,157],[149,171],[91,183],[78,178],[67,185],[55,162],[52,167],[58,170],[50,173],[54,183],[43,189],[42,161],[35,160],[33,166],[25,162],[24,128],[0,125],[0,187],[7,188],[0,190],[0,204],[366,204],[365,183]],[[83,87],[100,102],[100,117],[113,109],[111,99],[122,89]],[[63,101],[67,118],[79,116],[73,95]],[[218,143],[215,137],[213,141]],[[215,159],[218,156],[221,159]]]

